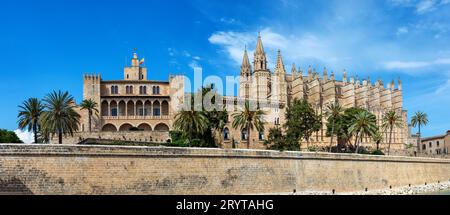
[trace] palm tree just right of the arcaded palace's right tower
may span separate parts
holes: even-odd
[[[187,132],[191,146],[193,133],[203,133],[208,129],[208,119],[202,111],[183,110],[175,115],[173,126],[176,130]]]

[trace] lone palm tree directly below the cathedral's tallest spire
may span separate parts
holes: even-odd
[[[251,130],[253,130],[253,128],[256,128],[258,132],[264,130],[264,115],[264,111],[259,108],[251,110],[249,101],[245,102],[243,110],[233,114],[233,128],[237,129],[239,127],[240,130],[247,130],[247,148],[250,148]]]

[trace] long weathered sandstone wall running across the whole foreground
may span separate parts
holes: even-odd
[[[359,191],[450,179],[450,160],[168,147],[0,145],[0,193]]]

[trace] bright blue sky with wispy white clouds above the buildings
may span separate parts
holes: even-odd
[[[236,75],[260,31],[271,67],[281,49],[286,65],[338,79],[401,77],[409,116],[428,113],[424,135],[450,129],[450,0],[2,1],[0,27],[0,128],[17,128],[29,97],[79,102],[84,73],[121,79],[133,48],[150,79]]]

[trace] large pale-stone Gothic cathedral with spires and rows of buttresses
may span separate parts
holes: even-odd
[[[244,50],[238,98],[235,98],[257,100],[263,104],[270,104],[263,105],[261,108],[266,113],[264,132],[250,132],[251,148],[265,148],[263,143],[269,129],[273,127],[282,128],[286,121],[286,107],[295,99],[307,100],[316,110],[316,113],[322,116],[327,111],[326,106],[334,102],[338,102],[344,109],[364,108],[377,117],[378,126],[381,126],[384,113],[395,110],[402,116],[404,126],[394,129],[391,148],[402,150],[407,143],[409,134],[407,111],[403,109],[402,83],[400,80],[398,80],[397,86],[395,86],[394,81],[384,85],[381,80],[372,83],[369,79],[360,80],[352,75],[348,77],[346,71],[343,72],[342,80],[336,80],[334,73],[329,73],[326,68],[324,68],[322,74],[312,69],[311,66],[304,72],[301,68],[296,68],[295,64],[292,64],[288,74],[280,50],[273,72],[267,64],[262,38],[259,35],[252,63],[250,63],[247,50]],[[222,135],[224,146],[235,145],[244,148],[248,138],[247,131],[232,128],[232,113],[230,113],[229,119],[230,122]],[[310,145],[319,147],[329,145],[330,138],[326,136],[325,117],[323,117],[322,122],[322,128],[313,134],[309,141]],[[388,132],[383,132],[383,134],[384,139],[387,140]],[[365,139],[362,145],[374,146],[375,144],[370,139]],[[306,144],[302,144],[302,147],[304,146]]]

